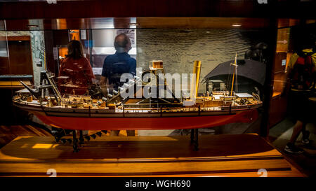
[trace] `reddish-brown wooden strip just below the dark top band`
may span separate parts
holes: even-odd
[[[30,22],[33,20],[29,20]],[[67,19],[41,19],[43,26],[36,29],[116,29],[130,28],[131,17],[114,18],[67,18]],[[137,28],[206,28],[206,29],[236,29],[232,24],[242,24],[239,29],[263,29],[268,27],[269,20],[265,18],[249,17],[136,17]],[[6,20],[7,30],[29,30],[24,20]],[[54,31],[56,34],[58,31]],[[65,33],[65,31],[64,31]],[[60,32],[54,38],[60,36]],[[67,36],[67,35],[66,35]],[[62,36],[60,36],[62,37]],[[59,38],[60,38],[59,37]],[[60,44],[60,43],[59,43]]]

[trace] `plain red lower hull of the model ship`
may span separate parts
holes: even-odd
[[[200,115],[178,117],[140,118],[77,118],[48,116],[43,112],[33,112],[47,125],[62,129],[114,130],[114,129],[195,129],[225,125],[234,122],[252,122],[258,118],[256,109],[237,111],[224,115]],[[195,113],[198,115],[198,113]]]

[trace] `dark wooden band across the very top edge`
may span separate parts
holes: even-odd
[[[315,17],[315,1],[220,1],[220,0],[91,0],[7,2],[0,17]]]

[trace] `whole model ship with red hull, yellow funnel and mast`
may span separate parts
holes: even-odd
[[[236,72],[231,90],[213,90],[202,97],[197,96],[201,62],[195,61],[194,88],[187,97],[175,97],[173,91],[167,88],[166,81],[160,85],[166,92],[169,91],[171,98],[145,98],[141,92],[140,97],[122,97],[121,93],[126,89],[133,88],[135,94],[139,94],[138,90],[152,85],[152,82],[144,82],[137,76],[104,97],[77,95],[75,92],[62,95],[53,74],[42,71],[37,88],[20,82],[25,90],[13,97],[13,105],[33,113],[46,125],[72,130],[197,129],[252,122],[258,118],[257,108],[262,106],[262,101],[258,94],[233,91],[234,76],[237,78],[236,59],[237,55],[235,63],[232,63]],[[149,73],[157,80],[159,72],[164,73],[162,61],[153,61],[150,69],[143,74]]]

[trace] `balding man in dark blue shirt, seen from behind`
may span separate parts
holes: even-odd
[[[114,55],[108,55],[103,64],[103,70],[100,79],[100,87],[103,94],[107,95],[107,87],[109,93],[117,90],[123,85],[121,75],[123,73],[131,73],[136,76],[136,59],[132,58],[128,52],[131,50],[131,41],[126,34],[119,34],[114,39],[114,48],[117,50]],[[128,136],[135,136],[134,130],[126,130]],[[112,130],[111,136],[118,136],[119,130]]]

